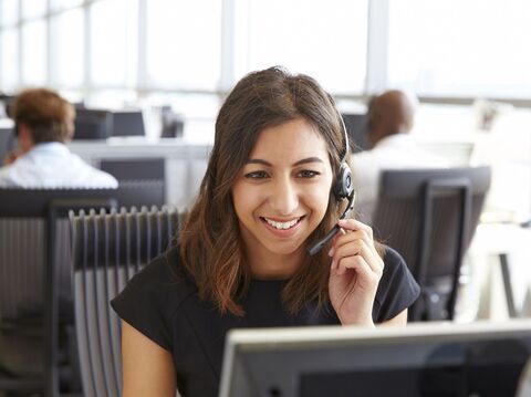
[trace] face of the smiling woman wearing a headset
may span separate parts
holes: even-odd
[[[326,143],[310,123],[296,118],[262,130],[232,187],[247,252],[272,259],[304,250],[331,186]]]

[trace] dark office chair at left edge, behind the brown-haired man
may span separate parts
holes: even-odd
[[[60,323],[73,321],[67,210],[160,205],[157,186],[0,189],[0,391],[59,396],[60,369],[73,378],[72,366],[60,368],[67,358],[59,348]],[[25,362],[17,343],[29,349]]]

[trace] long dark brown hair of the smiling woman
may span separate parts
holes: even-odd
[[[195,279],[199,296],[214,302],[222,313],[243,315],[238,302],[251,280],[232,186],[259,134],[299,117],[315,126],[326,142],[335,178],[345,150],[344,133],[331,96],[312,77],[279,66],[250,73],[219,111],[208,168],[179,242],[183,264]],[[323,237],[337,222],[339,212],[331,194],[326,215],[308,241]],[[306,255],[283,289],[285,307],[295,313],[310,301],[324,303],[329,299],[329,272],[326,250]]]

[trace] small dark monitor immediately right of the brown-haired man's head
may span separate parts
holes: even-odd
[[[76,107],[74,139],[106,139],[111,136],[112,128],[111,112]]]

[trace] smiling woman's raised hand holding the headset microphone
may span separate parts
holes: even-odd
[[[340,220],[332,257],[329,294],[343,325],[374,325],[373,305],[384,261],[376,252],[373,230],[354,219]]]

